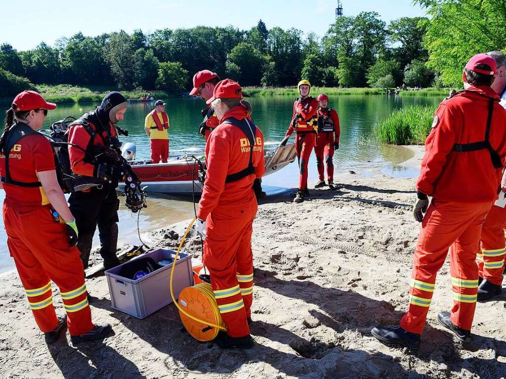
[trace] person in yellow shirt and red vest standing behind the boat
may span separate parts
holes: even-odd
[[[155,102],[155,109],[148,113],[144,121],[144,129],[150,138],[151,160],[153,164],[167,163],[168,147],[168,115],[165,113],[165,103],[161,100]]]

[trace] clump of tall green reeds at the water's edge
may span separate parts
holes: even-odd
[[[372,135],[384,144],[422,145],[431,131],[435,107],[409,106],[379,121]]]

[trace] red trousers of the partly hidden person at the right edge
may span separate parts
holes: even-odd
[[[502,284],[504,268],[504,226],[506,209],[493,205],[483,224],[481,250],[476,255],[480,276],[497,286]]]

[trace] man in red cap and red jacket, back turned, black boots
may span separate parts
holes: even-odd
[[[448,249],[453,307],[440,312],[438,321],[461,342],[471,340],[478,293],[476,252],[485,216],[497,199],[506,155],[506,112],[490,87],[495,70],[493,58],[475,55],[462,74],[465,90],[436,110],[416,183],[413,214],[422,224],[409,309],[399,326],[372,328],[383,343],[419,348],[436,274]]]

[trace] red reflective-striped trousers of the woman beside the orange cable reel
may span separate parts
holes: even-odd
[[[253,302],[253,254],[251,233],[257,199],[251,191],[246,202],[218,206],[207,216],[203,263],[230,337],[249,334],[246,317]]]

